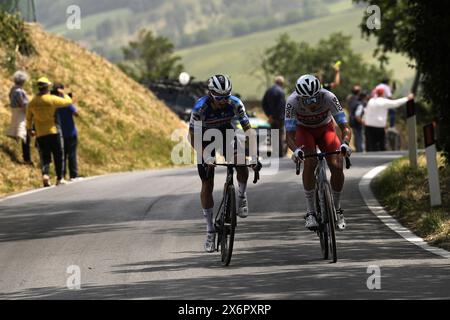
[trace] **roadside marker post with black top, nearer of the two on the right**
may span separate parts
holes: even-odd
[[[442,205],[441,189],[439,186],[439,171],[436,161],[436,139],[434,137],[434,124],[423,127],[425,137],[425,154],[427,157],[428,183],[430,188],[431,206]]]

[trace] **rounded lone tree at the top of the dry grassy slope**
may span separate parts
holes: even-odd
[[[174,46],[165,37],[155,37],[141,30],[137,41],[122,49],[125,61],[119,67],[136,81],[150,84],[155,80],[178,77],[183,70],[180,57],[173,55]]]

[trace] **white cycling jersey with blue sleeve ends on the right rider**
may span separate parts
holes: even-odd
[[[319,106],[311,110],[304,99],[293,92],[286,103],[286,131],[296,131],[297,126],[318,128],[331,122],[331,116],[338,124],[347,123],[345,113],[338,98],[330,91],[321,89],[318,94]]]

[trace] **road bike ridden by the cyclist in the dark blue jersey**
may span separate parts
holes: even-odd
[[[236,167],[251,167],[251,165],[237,165],[227,163],[214,163],[214,166],[227,168],[227,178],[223,187],[223,197],[219,209],[215,215],[214,227],[217,233],[216,251],[221,253],[221,260],[224,266],[228,266],[233,254],[234,235],[236,232],[236,192],[234,188],[234,169]],[[259,180],[260,164],[255,169],[253,183]],[[207,177],[210,175],[207,171]]]

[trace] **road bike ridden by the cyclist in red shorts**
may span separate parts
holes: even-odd
[[[331,192],[331,185],[327,179],[325,158],[330,155],[340,154],[341,151],[333,152],[319,152],[305,155],[304,158],[317,158],[318,163],[314,170],[316,178],[315,195],[316,195],[316,219],[319,226],[315,231],[320,239],[320,247],[322,249],[323,258],[326,260],[331,255],[333,262],[337,261],[337,247],[336,247],[336,223],[337,214],[334,207],[333,194]],[[300,164],[297,161],[296,174],[300,174]],[[348,157],[345,157],[345,167],[349,169],[351,162]]]

